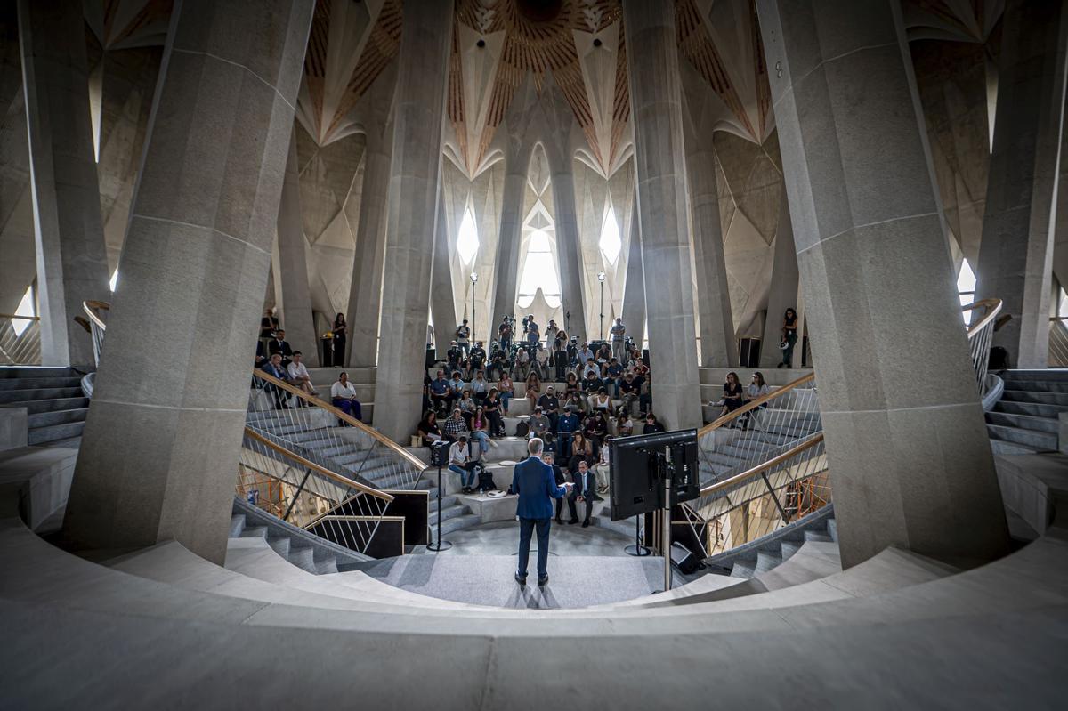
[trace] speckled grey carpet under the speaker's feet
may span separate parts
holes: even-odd
[[[533,548],[533,547],[532,547]],[[535,552],[520,587],[516,556],[405,555],[361,564],[383,583],[443,600],[499,607],[568,609],[631,600],[663,589],[661,557],[550,556],[549,583],[537,586]]]

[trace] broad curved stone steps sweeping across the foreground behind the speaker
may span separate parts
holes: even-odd
[[[967,572],[889,550],[812,578],[827,560],[806,543],[761,574],[768,591],[733,596],[712,588],[733,581],[706,576],[640,604],[500,611],[311,575],[256,539],[232,541],[234,567],[238,551],[264,557],[246,557],[249,574],[173,544],[107,568],[38,539],[9,494],[0,663],[18,683],[0,690],[0,706],[310,706],[358,694],[371,707],[522,708],[551,678],[572,702],[613,708],[707,702],[710,688],[760,706],[963,708],[983,690],[1052,708],[1068,623],[1064,497],[1045,536]],[[285,572],[264,572],[267,560]]]

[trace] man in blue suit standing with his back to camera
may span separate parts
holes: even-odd
[[[541,461],[544,444],[532,439],[527,449],[530,457],[518,464],[512,474],[512,491],[519,494],[516,516],[519,517],[519,567],[516,582],[527,584],[527,562],[531,555],[531,534],[537,526],[537,584],[549,582],[549,523],[552,518],[552,500],[567,495],[570,484],[556,486],[552,468]]]

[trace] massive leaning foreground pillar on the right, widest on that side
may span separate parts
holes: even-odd
[[[757,12],[843,564],[888,546],[1001,555],[1005,512],[900,5],[757,0]]]

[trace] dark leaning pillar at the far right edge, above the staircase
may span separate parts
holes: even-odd
[[[976,296],[1002,299],[1012,316],[994,345],[1014,367],[1046,367],[1048,357],[1066,43],[1064,3],[1006,4]]]

